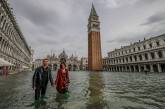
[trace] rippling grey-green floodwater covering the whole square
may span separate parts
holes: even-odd
[[[52,72],[53,76],[56,72]],[[36,109],[33,72],[0,76],[0,109]],[[70,72],[69,95],[50,84],[37,109],[165,109],[165,73]]]

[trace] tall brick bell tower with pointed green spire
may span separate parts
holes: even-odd
[[[88,70],[102,70],[100,22],[93,4],[88,18]]]

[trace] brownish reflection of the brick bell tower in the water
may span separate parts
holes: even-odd
[[[104,81],[102,76],[101,72],[89,73],[87,109],[109,109],[104,100]]]

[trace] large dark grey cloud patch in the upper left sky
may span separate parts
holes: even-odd
[[[14,10],[17,11],[21,16],[26,17],[32,23],[38,26],[45,26],[51,23],[54,19],[57,20],[56,13],[49,9],[45,8],[40,3],[35,2],[34,0],[15,0],[13,4],[16,7]]]

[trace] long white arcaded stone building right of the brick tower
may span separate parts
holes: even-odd
[[[103,64],[112,72],[165,72],[165,34],[115,49]]]

